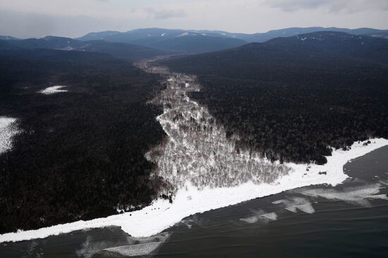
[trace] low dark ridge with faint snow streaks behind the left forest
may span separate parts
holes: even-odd
[[[116,58],[125,60],[140,60],[144,58],[152,58],[154,56],[162,56],[168,54],[166,51],[151,49],[146,46],[138,46],[134,44],[113,43],[107,41],[79,41],[66,37],[44,37],[42,39],[8,39],[0,41],[0,49],[2,45],[18,46],[22,49],[58,49],[65,51],[86,51],[107,53]]]

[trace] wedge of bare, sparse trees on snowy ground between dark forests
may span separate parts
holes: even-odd
[[[237,151],[238,137],[227,138],[226,129],[207,108],[188,97],[188,92],[199,90],[195,77],[174,74],[154,100],[164,106],[157,120],[169,138],[146,157],[157,164],[155,176],[171,186],[166,192],[175,192],[188,181],[199,189],[238,186],[248,181],[272,183],[291,172],[290,167],[271,163],[260,153]]]

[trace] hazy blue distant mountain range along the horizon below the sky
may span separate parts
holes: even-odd
[[[252,42],[265,42],[277,37],[293,37],[298,34],[313,32],[345,32],[355,35],[388,38],[388,30],[370,28],[344,29],[337,27],[292,27],[282,30],[271,30],[266,33],[243,34],[220,30],[170,30],[170,29],[138,29],[128,32],[92,32],[78,39],[47,36],[42,39],[16,39],[0,36],[24,49],[61,49],[78,51],[97,51],[111,56],[137,60],[166,54],[204,53],[233,49]],[[4,42],[2,48],[10,48]]]

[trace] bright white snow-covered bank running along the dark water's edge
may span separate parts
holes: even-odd
[[[203,188],[200,191],[188,183],[186,187],[177,191],[176,198],[172,204],[168,200],[156,200],[149,207],[145,207],[136,212],[90,221],[76,221],[69,224],[40,228],[35,231],[5,233],[0,235],[0,243],[46,238],[48,236],[70,233],[71,231],[78,231],[85,228],[102,228],[106,226],[120,226],[123,231],[126,231],[126,233],[133,237],[152,236],[173,226],[181,221],[181,219],[198,212],[236,205],[239,202],[281,193],[282,191],[302,186],[321,183],[337,185],[347,178],[342,167],[348,160],[388,145],[388,140],[383,138],[370,139],[370,141],[371,143],[368,146],[363,146],[363,142],[360,142],[354,143],[351,146],[351,150],[334,150],[333,155],[327,157],[326,165],[310,165],[308,172],[306,171],[306,165],[287,164],[293,167],[294,171],[281,177],[274,183],[256,185],[248,182],[240,186]],[[327,172],[327,174],[319,174],[319,172]]]

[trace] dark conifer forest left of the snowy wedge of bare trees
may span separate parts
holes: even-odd
[[[67,92],[45,95],[49,86]],[[147,205],[162,181],[145,153],[164,131],[157,75],[107,54],[0,50],[0,116],[20,134],[0,155],[0,233]]]

